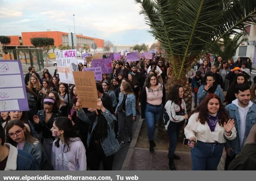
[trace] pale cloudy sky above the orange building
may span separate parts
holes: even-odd
[[[134,0],[0,0],[0,35],[62,31],[111,41],[151,46],[140,6]],[[75,14],[75,16],[73,16]]]

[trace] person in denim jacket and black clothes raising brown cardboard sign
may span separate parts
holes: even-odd
[[[103,106],[104,104],[104,106]],[[102,161],[104,170],[112,170],[114,154],[120,149],[119,143],[114,132],[115,116],[108,109],[108,102],[105,99],[97,100],[99,109],[89,108],[95,112],[94,117],[89,119],[82,109],[79,100],[76,102],[77,116],[86,123],[90,123],[87,145],[89,145],[91,154],[90,170],[99,170]]]

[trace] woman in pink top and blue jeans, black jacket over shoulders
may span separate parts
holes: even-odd
[[[142,89],[140,96],[141,118],[146,119],[148,128],[149,151],[154,152],[156,143],[154,142],[154,134],[156,123],[162,115],[163,103],[165,100],[165,88],[158,83],[158,79],[153,75],[148,76],[148,83]]]

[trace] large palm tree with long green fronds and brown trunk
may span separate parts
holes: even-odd
[[[184,88],[187,109],[191,108],[191,87],[185,77],[199,55],[224,37],[255,24],[256,1],[251,0],[135,0],[148,31],[161,43],[171,70],[167,92],[173,84]],[[253,19],[255,18],[255,19]]]

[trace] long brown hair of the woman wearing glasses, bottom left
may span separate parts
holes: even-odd
[[[26,128],[26,126],[24,125],[24,123],[18,119],[12,120],[10,121],[7,126],[6,126],[6,142],[10,143],[11,145],[15,146],[17,145],[17,143],[15,141],[13,141],[10,137],[9,137],[9,130],[13,127],[13,126],[19,126],[20,128]],[[33,143],[40,143],[36,138],[34,138],[30,132],[28,131],[28,129],[26,128],[25,133],[25,137],[26,137],[26,141],[31,144],[34,145]]]

